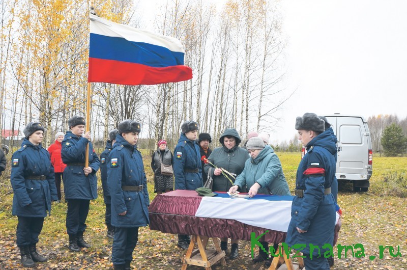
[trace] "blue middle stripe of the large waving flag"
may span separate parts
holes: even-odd
[[[142,64],[150,67],[184,65],[184,53],[144,42],[91,33],[89,57]]]

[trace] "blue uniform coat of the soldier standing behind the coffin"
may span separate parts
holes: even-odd
[[[195,141],[189,140],[184,133],[175,147],[173,160],[176,190],[194,191],[203,186],[199,146]],[[198,169],[198,172],[185,172],[185,169]]]

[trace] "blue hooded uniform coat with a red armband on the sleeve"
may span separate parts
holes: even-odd
[[[321,254],[324,244],[333,245],[335,227],[335,199],[332,193],[324,195],[331,187],[336,170],[336,144],[329,132],[319,134],[307,145],[307,153],[297,170],[296,188],[304,190],[304,197],[295,196],[291,210],[286,243],[288,246],[306,244],[304,254],[309,254],[309,244],[317,245]],[[299,233],[297,227],[305,230]],[[313,252],[317,256],[317,249]]]

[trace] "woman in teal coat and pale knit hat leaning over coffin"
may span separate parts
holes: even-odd
[[[236,178],[235,185],[230,187],[229,193],[235,193],[238,188],[247,185],[250,197],[254,197],[257,193],[289,196],[289,188],[280,159],[273,148],[270,145],[265,146],[261,138],[253,137],[247,142],[246,149],[251,158],[246,160],[243,172]],[[261,241],[261,244],[266,251],[269,250],[268,242]],[[274,248],[277,247],[278,243],[274,243]],[[253,262],[268,259],[268,253],[259,248],[259,255],[253,259]]]

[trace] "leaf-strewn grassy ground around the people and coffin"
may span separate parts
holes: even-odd
[[[300,162],[300,153],[277,153],[283,165],[290,191],[293,193],[295,175]],[[155,197],[150,156],[143,151],[144,167],[148,178],[150,200]],[[338,259],[334,249],[335,266],[332,269],[407,269],[407,157],[373,158],[373,176],[367,193],[352,192],[352,185],[340,184],[338,204],[343,210],[342,228],[338,244],[343,246],[362,244],[365,256]],[[8,175],[7,172],[4,175]],[[0,268],[20,269],[19,254],[15,245],[17,218],[11,215],[13,194],[10,181],[3,177],[0,182]],[[67,248],[68,235],[65,228],[66,204],[52,204],[52,215],[45,219],[40,235],[39,250],[49,261],[37,264],[37,269],[107,269],[111,267],[111,240],[106,238],[104,204],[99,188],[99,198],[91,202],[88,229],[85,239],[92,248],[71,253]],[[139,241],[133,253],[134,269],[180,269],[184,252],[176,247],[177,236],[152,231],[148,227],[139,231]],[[388,249],[379,258],[379,246],[392,246],[401,257],[392,257]],[[229,244],[230,248],[230,244]],[[369,256],[376,256],[371,261]],[[250,243],[241,241],[240,257],[227,260],[227,266],[217,265],[213,269],[264,269],[263,264],[252,264]],[[191,267],[188,269],[202,269]]]

